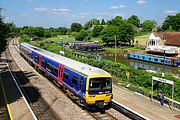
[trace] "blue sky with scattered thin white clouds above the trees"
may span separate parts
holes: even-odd
[[[150,19],[162,24],[168,15],[180,12],[180,0],[1,0],[4,22],[16,26],[70,27],[96,18]]]

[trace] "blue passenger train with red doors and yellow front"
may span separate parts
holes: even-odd
[[[111,107],[112,76],[108,72],[28,43],[20,43],[19,51],[83,107],[104,110]]]

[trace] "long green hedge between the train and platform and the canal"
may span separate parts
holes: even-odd
[[[25,39],[20,40],[21,42],[25,42]],[[64,50],[65,56],[95,67],[99,67],[113,76],[113,83],[114,84],[121,84],[121,86],[126,87],[129,86],[128,89],[134,90],[146,96],[151,95],[151,86],[152,86],[152,76],[161,77],[160,73],[148,73],[145,70],[138,70],[133,67],[127,67],[124,64],[116,63],[112,61],[96,61],[92,58],[81,58],[74,56],[70,51],[65,50],[63,46],[59,44],[44,44],[44,42],[28,42],[32,45],[40,47],[42,49],[54,52],[59,54],[60,50]],[[126,73],[130,73],[130,77],[126,77]],[[176,101],[180,101],[180,80],[174,78],[171,74],[166,73],[165,79],[172,80],[175,83],[175,92],[174,92],[174,99]],[[161,99],[161,88],[162,83],[154,81],[154,97],[156,99]],[[172,87],[170,85],[165,84],[164,86],[165,96],[171,98]]]

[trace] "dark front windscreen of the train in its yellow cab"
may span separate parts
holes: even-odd
[[[89,80],[90,92],[105,92],[112,91],[111,78],[91,78]]]

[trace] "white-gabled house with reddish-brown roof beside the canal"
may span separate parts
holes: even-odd
[[[146,52],[151,54],[180,57],[180,32],[151,33]]]

